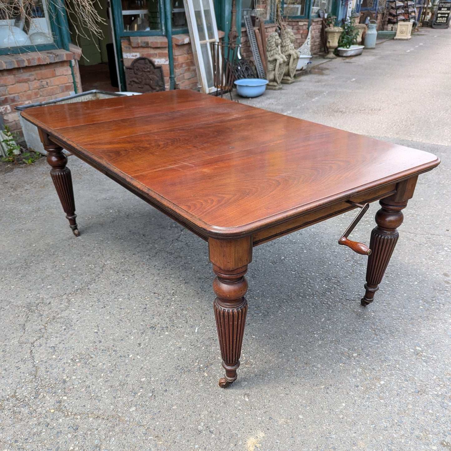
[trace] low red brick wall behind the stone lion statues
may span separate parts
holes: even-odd
[[[291,28],[294,33],[295,41],[294,48],[298,49],[307,39],[308,34],[308,19],[291,19],[287,20],[286,24],[288,28]],[[318,55],[324,51],[321,44],[321,27],[322,19],[314,18],[310,24],[312,28],[311,32],[311,50],[312,55]],[[257,28],[255,28],[257,30]],[[270,33],[276,31],[276,25],[274,23],[265,23],[266,39]],[[247,59],[253,61],[251,46],[247,37],[246,28],[241,29],[241,54]]]

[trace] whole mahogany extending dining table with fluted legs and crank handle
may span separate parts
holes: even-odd
[[[252,248],[361,208],[339,244],[368,256],[361,304],[370,304],[418,175],[440,163],[428,152],[188,90],[37,106],[22,116],[39,130],[74,235],[63,148],[208,243],[221,387],[240,365]],[[381,208],[368,247],[348,235],[374,201]]]

